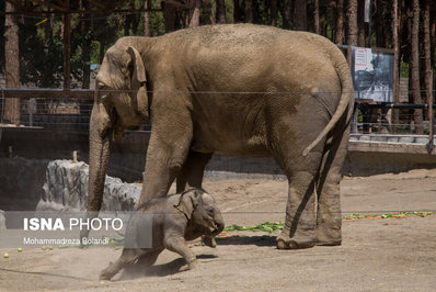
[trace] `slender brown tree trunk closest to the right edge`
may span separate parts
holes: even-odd
[[[431,104],[433,101],[433,68],[432,68],[432,50],[431,50],[431,1],[424,1],[424,11],[423,11],[423,76],[424,76],[424,101],[427,104]],[[428,116],[428,119],[433,119],[433,116]]]

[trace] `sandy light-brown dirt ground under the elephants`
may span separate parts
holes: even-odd
[[[284,221],[287,182],[272,179],[206,181],[226,224]],[[436,170],[344,178],[344,216],[436,210]],[[0,249],[0,290],[102,291],[434,291],[436,215],[343,221],[343,244],[277,250],[275,234],[231,232],[211,249],[193,243],[199,265],[186,270],[164,251],[147,272],[99,281],[121,250],[110,247],[54,250]]]

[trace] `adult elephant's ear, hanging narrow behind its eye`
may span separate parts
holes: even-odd
[[[138,112],[145,119],[149,117],[149,104],[147,96],[147,77],[146,67],[139,52],[133,46],[127,47],[127,53],[130,55],[129,67],[130,71],[130,90],[133,96],[136,97]]]

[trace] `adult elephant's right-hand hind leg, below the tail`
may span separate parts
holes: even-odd
[[[348,145],[349,127],[333,137],[323,156],[317,181],[317,245],[337,246],[342,243],[341,171]]]

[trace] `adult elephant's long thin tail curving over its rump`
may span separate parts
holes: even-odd
[[[302,156],[306,157],[314,146],[318,145],[330,131],[334,128],[336,123],[343,117],[346,110],[348,109],[346,125],[348,125],[354,106],[354,89],[353,89],[353,79],[351,76],[348,64],[344,58],[344,55],[337,47],[332,47],[331,57],[334,63],[334,67],[336,69],[337,76],[341,80],[341,98],[337,104],[336,111],[332,115],[332,119],[322,130],[322,132],[318,135],[318,137],[302,151]]]

